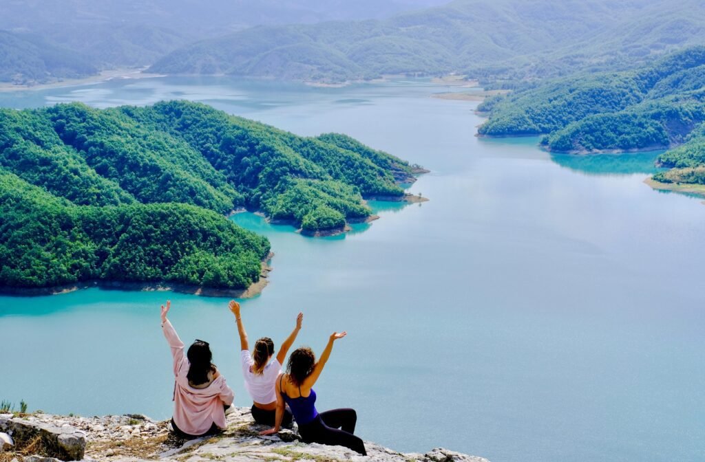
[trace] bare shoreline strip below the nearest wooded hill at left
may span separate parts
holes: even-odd
[[[157,282],[137,282],[137,281],[109,281],[109,280],[89,280],[62,284],[51,287],[0,287],[0,295],[11,296],[47,296],[61,295],[77,292],[82,289],[102,289],[102,290],[125,290],[130,292],[178,292],[180,294],[192,294],[213,297],[231,297],[235,299],[251,299],[262,293],[264,287],[269,284],[269,273],[272,268],[269,261],[274,257],[272,252],[262,261],[262,268],[259,273],[259,280],[253,282],[245,289],[222,289],[217,287],[202,287],[197,285],[180,284],[168,281]]]

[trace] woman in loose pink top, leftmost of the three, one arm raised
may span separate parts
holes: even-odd
[[[161,306],[161,330],[173,356],[174,413],[171,425],[181,437],[213,435],[226,427],[225,410],[235,394],[211,362],[207,342],[196,340],[183,354],[184,344],[166,318],[171,301]]]

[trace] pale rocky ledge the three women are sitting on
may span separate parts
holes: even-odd
[[[105,462],[488,462],[441,448],[426,454],[405,454],[372,442],[365,442],[368,455],[360,456],[340,446],[302,443],[292,430],[262,437],[259,431],[266,427],[255,424],[249,408],[235,408],[228,415],[227,430],[216,437],[177,439],[168,432],[167,423],[135,414],[91,418],[42,413],[0,415],[0,432],[7,432],[9,437],[14,433],[16,437],[14,446],[6,445],[0,452],[0,461],[59,462],[82,458]],[[36,433],[32,429],[37,429]],[[20,434],[35,437],[18,437]],[[60,435],[71,435],[71,454],[56,450]],[[62,439],[66,442],[68,436]]]

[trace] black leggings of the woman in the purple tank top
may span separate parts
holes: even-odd
[[[299,433],[304,442],[344,446],[367,456],[362,439],[353,435],[355,423],[357,423],[355,409],[333,409],[319,413],[312,422],[299,425]]]

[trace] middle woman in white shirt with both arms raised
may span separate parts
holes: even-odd
[[[242,362],[243,375],[245,376],[245,389],[250,393],[253,401],[252,417],[259,424],[273,427],[276,417],[274,382],[276,382],[276,377],[281,373],[281,365],[286,358],[286,353],[301,330],[304,315],[299,313],[296,318],[296,327],[281,344],[281,350],[279,350],[276,358],[271,360],[272,356],[274,356],[274,342],[269,337],[262,337],[255,342],[255,349],[250,354],[247,332],[245,332],[243,319],[240,316],[240,304],[235,300],[231,300],[229,306],[238,323],[241,350],[240,361]],[[285,409],[282,425],[291,425],[291,412],[288,409]]]

